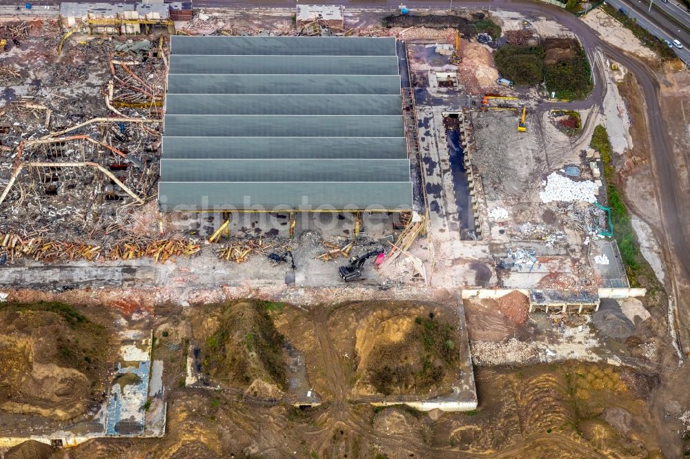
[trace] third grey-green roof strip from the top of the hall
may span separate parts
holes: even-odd
[[[168,94],[400,94],[400,76],[170,74]]]

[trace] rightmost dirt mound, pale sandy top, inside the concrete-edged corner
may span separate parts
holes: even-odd
[[[420,303],[354,303],[328,328],[355,366],[355,396],[428,394],[457,378],[460,333],[450,308]]]

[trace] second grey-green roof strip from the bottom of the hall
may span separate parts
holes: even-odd
[[[406,159],[162,159],[169,182],[404,182]]]

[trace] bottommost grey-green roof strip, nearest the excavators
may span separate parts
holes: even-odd
[[[188,210],[396,210],[411,209],[412,183],[179,183],[161,182],[164,212]]]

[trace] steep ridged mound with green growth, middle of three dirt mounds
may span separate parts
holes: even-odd
[[[217,305],[191,322],[193,338],[202,343],[202,371],[214,383],[242,390],[258,389],[256,380],[285,386],[284,337],[264,303],[239,300]]]

